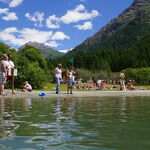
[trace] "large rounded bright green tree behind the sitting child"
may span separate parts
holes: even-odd
[[[21,87],[27,80],[33,88],[42,88],[43,83],[48,81],[47,63],[37,48],[26,46],[19,51],[16,68],[18,69],[18,77],[16,77],[15,83],[18,87]]]

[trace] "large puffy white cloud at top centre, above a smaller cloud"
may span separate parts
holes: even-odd
[[[88,12],[83,5],[78,5],[73,10],[68,10],[67,13],[61,17],[61,21],[65,24],[76,23],[81,20],[92,19],[99,15],[97,10],[92,10]]]

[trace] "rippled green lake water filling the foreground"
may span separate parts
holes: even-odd
[[[149,150],[150,97],[0,98],[0,150]]]

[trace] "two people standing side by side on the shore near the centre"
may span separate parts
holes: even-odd
[[[61,68],[62,68],[62,65],[58,64],[57,67],[53,71],[55,82],[56,82],[56,94],[60,93],[60,83],[63,80]],[[66,83],[67,83],[67,94],[69,93],[73,94],[72,89],[73,89],[73,85],[75,84],[74,75],[75,75],[75,72],[73,72],[71,67],[65,72],[65,78],[66,78]]]

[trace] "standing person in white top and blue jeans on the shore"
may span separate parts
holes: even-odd
[[[60,93],[60,82],[62,80],[62,65],[58,64],[57,67],[55,68],[53,74],[55,77],[55,82],[56,82],[56,94]]]

